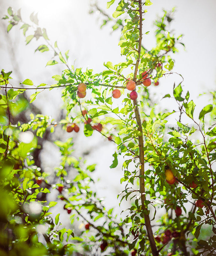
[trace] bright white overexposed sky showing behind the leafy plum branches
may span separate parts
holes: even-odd
[[[102,19],[97,14],[90,15],[89,4],[87,0],[1,0],[0,15],[6,14],[9,6],[15,11],[21,8],[23,20],[29,22],[29,16],[32,12],[38,12],[39,25],[47,29],[48,37],[55,42],[57,40],[62,52],[70,49],[69,61],[75,62],[75,67],[93,68],[94,72],[101,72],[105,69],[104,62],[111,61],[119,63],[124,60],[120,56],[120,47],[118,46],[120,30],[110,33],[110,27],[105,26],[100,29]],[[98,1],[102,9],[106,10],[107,1]],[[153,21],[162,10],[171,10],[176,6],[175,20],[171,23],[171,29],[175,29],[176,35],[183,34],[182,42],[186,46],[179,47],[180,53],[175,54],[176,71],[184,77],[184,86],[186,92],[190,91],[191,98],[197,104],[197,112],[207,104],[208,97],[202,99],[198,95],[202,92],[215,90],[216,82],[216,1],[215,0],[153,0],[153,5],[147,7],[143,22],[144,33],[150,31],[150,35],[143,37],[144,45],[147,49],[154,47],[154,26]],[[114,11],[114,5],[106,12]],[[0,33],[3,35],[3,26],[6,28],[6,21],[0,20]],[[28,34],[28,32],[26,33]],[[5,35],[0,36],[0,68],[5,71],[14,70],[14,64],[11,62],[9,53],[10,45],[4,40]],[[34,84],[55,83],[51,78],[53,75],[60,74],[64,68],[60,66],[46,67],[46,63],[51,59],[52,53],[45,52],[34,53],[34,50],[43,42],[35,39],[30,44],[25,45],[25,38],[18,27],[11,29],[9,38],[15,52],[17,64],[15,66],[20,70],[21,77],[14,73],[13,84],[22,82],[30,78]],[[22,79],[22,81],[20,81]],[[160,101],[163,95],[172,92],[173,83],[179,82],[176,76],[170,76],[168,79],[162,78],[160,86],[150,86],[149,90],[155,93],[155,100]],[[46,104],[44,104],[46,102]],[[43,114],[51,115],[54,118],[59,116],[61,101],[61,89],[43,92],[35,101],[43,111]],[[172,106],[167,100],[160,102],[162,108],[172,110]],[[171,108],[170,108],[171,107]],[[100,177],[98,189],[102,196],[106,196],[106,204],[109,207],[117,205],[116,195],[122,190],[119,187],[119,180],[122,177],[121,163],[116,170],[110,171],[108,166],[112,162],[112,154],[115,151],[115,145],[104,141],[101,144],[100,135],[93,135],[92,138],[84,137],[81,132],[78,133],[77,147],[79,152],[83,152],[83,145],[86,151],[90,150],[88,155],[89,163],[97,163],[95,178]],[[47,145],[50,153],[50,145]],[[78,153],[79,153],[78,152]],[[77,155],[78,155],[77,153]],[[51,154],[50,154],[51,156]],[[51,156],[52,157],[52,156]],[[47,164],[51,159],[48,159]],[[115,177],[115,178],[114,178]],[[110,189],[111,188],[111,189]],[[123,204],[124,206],[124,204]]]

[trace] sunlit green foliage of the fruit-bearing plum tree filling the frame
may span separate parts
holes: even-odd
[[[107,8],[112,4],[116,4],[116,1],[109,1]],[[147,8],[151,4],[149,0],[122,0],[116,5],[112,17],[97,5],[92,6],[93,12],[95,9],[106,17],[103,25],[114,22],[113,30],[121,28],[119,46],[121,54],[125,56],[121,63],[104,63],[106,69],[99,74],[95,74],[93,69],[83,71],[82,68],[70,67],[69,51],[62,53],[57,42],[52,44],[46,29],[39,26],[37,14],[31,14],[31,23],[28,24],[22,20],[20,10],[16,13],[11,7],[8,8],[8,14],[3,18],[9,21],[7,32],[20,24],[26,36],[26,44],[33,39],[43,38],[44,44],[39,45],[35,51],[53,51],[53,58],[47,65],[63,63],[65,69],[61,75],[53,76],[55,84],[35,85],[35,92],[31,95],[29,103],[22,98],[22,93],[34,86],[33,81],[27,78],[21,83],[26,87],[16,89],[11,85],[12,72],[1,72],[1,255],[101,253],[117,256],[129,255],[131,250],[132,255],[146,256],[165,256],[168,253],[216,255],[216,94],[212,92],[210,104],[205,106],[198,116],[194,116],[195,103],[190,99],[189,91],[183,92],[183,78],[178,74],[182,82],[174,84],[173,91],[164,96],[170,100],[170,104],[175,102],[175,105],[172,105],[173,110],[156,111],[148,87],[143,84],[146,79],[155,83],[163,76],[172,75],[175,67],[173,53],[178,52],[178,47],[184,44],[181,42],[182,35],[175,36],[168,28],[173,20],[172,10],[164,11],[163,16],[155,21],[156,45],[152,50],[147,50],[141,45],[139,15],[147,12],[144,7]],[[142,11],[140,6],[143,7]],[[120,19],[121,15],[125,16],[124,20]],[[148,34],[149,31],[142,33]],[[146,77],[145,74],[142,75],[143,72],[146,72]],[[138,102],[130,100],[125,91],[130,78],[136,82]],[[77,95],[80,83],[87,86],[85,99],[80,99]],[[56,87],[63,89],[62,100],[66,110],[64,119],[55,121],[46,115],[31,114],[28,123],[13,123],[13,117],[25,111],[28,104],[39,97],[41,89],[52,90]],[[116,88],[122,93],[119,100],[111,97],[113,89]],[[166,123],[170,115],[177,116],[178,121],[176,118],[176,123],[168,130]],[[183,116],[188,118],[188,124],[181,122]],[[193,125],[190,125],[190,122]],[[106,137],[116,144],[116,151],[111,153],[114,159],[110,168],[118,165],[118,155],[124,157],[123,177],[120,182],[124,182],[125,189],[118,197],[121,198],[120,202],[131,201],[131,207],[126,209],[128,215],[125,219],[115,216],[113,209],[106,209],[103,199],[93,191],[91,172],[96,166],[87,165],[85,160],[73,156],[75,148],[72,137],[66,141],[54,142],[61,153],[61,163],[55,168],[57,181],[55,184],[49,184],[48,174],[41,172],[36,166],[33,153],[39,148],[39,137],[43,138],[47,131],[55,132],[57,125],[61,125],[63,130],[68,132],[74,130],[71,134],[76,134],[81,128],[80,132],[86,137],[91,136],[93,132],[99,132],[102,138]],[[198,138],[194,137],[195,132],[199,133]],[[144,140],[143,144],[140,143],[140,137]],[[138,173],[142,168],[138,159],[143,149],[145,175]],[[165,172],[168,169],[173,173],[173,184],[166,180]],[[71,171],[73,178],[68,180]],[[141,185],[139,179],[145,182],[144,201],[138,189]],[[81,228],[80,234],[76,235],[71,229],[61,229],[59,213],[55,220],[50,216],[50,208],[56,206],[57,200],[49,203],[39,200],[39,193],[50,193],[53,189],[59,193],[58,198],[65,202],[64,209],[70,214],[71,224],[79,220],[84,223],[85,228]],[[186,204],[191,204],[191,211],[186,209]],[[155,216],[158,218],[156,212],[161,208],[165,209],[166,213],[157,220],[158,229],[154,234],[157,237],[154,240],[152,227],[147,225],[144,218],[149,216],[150,212],[153,219]],[[204,227],[208,227],[208,233],[202,231]],[[205,236],[205,240],[200,236],[200,232]],[[153,252],[155,243],[156,254]]]

